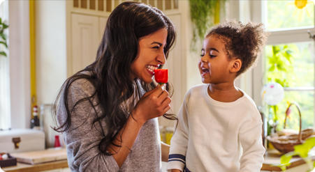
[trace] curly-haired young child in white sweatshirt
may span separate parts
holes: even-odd
[[[268,34],[261,23],[235,21],[207,34],[198,62],[204,84],[184,97],[170,142],[169,172],[260,171],[261,115],[235,79],[253,67]]]

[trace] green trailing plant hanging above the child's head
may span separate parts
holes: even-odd
[[[205,32],[219,23],[220,8],[224,9],[226,0],[190,0],[191,22],[193,22],[193,40],[191,49],[196,51],[197,40],[203,40]]]

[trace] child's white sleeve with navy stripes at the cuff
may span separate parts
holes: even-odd
[[[182,103],[182,107],[177,115],[178,124],[175,132],[170,141],[170,155],[168,157],[167,170],[179,169],[183,171],[186,165],[186,151],[188,146],[189,128],[188,128],[188,116],[187,116],[187,104],[186,101]]]

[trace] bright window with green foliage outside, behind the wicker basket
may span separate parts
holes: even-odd
[[[264,81],[276,81],[284,87],[284,100],[277,107],[268,106],[270,119],[277,110],[278,129],[284,127],[286,108],[291,102],[300,105],[302,128],[314,126],[314,40],[313,1],[261,1],[262,16],[268,31],[264,51]],[[288,128],[299,129],[298,109],[288,116]]]

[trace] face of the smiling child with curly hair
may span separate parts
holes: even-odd
[[[198,68],[204,84],[221,84],[230,81],[233,61],[228,59],[224,42],[216,36],[203,40]]]

